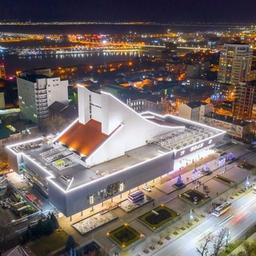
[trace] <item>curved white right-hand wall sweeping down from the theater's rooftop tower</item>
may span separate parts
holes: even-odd
[[[107,143],[88,157],[86,163],[89,166],[109,161],[123,155],[125,152],[141,147],[153,137],[164,134],[171,127],[160,127],[155,123],[145,120],[134,110],[112,97],[109,94],[101,95],[102,132],[109,134],[122,126],[118,136],[114,134]]]

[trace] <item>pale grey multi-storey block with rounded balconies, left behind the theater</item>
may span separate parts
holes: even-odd
[[[49,116],[54,102],[68,103],[68,81],[59,77],[24,73],[17,78],[21,115],[38,123]]]

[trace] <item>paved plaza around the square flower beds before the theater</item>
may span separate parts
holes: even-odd
[[[245,149],[243,145],[231,144],[225,150],[232,151],[234,152],[236,157],[241,157],[243,160],[247,160],[251,164],[256,165],[256,160],[253,157],[255,153]],[[206,175],[206,176],[199,175],[197,179],[200,180],[201,185],[198,185],[197,182],[193,182],[193,178],[192,178],[193,169],[191,169],[190,171],[187,171],[184,175],[182,175],[183,180],[185,182],[186,181],[188,182],[187,182],[187,186],[181,190],[175,190],[174,187],[172,186],[172,184],[176,182],[176,178],[173,180],[166,181],[165,183],[162,183],[162,184],[160,183],[160,180],[155,181],[155,184],[150,184],[154,186],[152,188],[152,192],[146,192],[146,191],[144,192],[146,195],[150,196],[153,199],[153,201],[133,210],[132,212],[127,213],[121,208],[117,207],[118,203],[124,202],[124,200],[127,198],[128,196],[128,192],[127,192],[122,195],[122,198],[118,196],[113,200],[108,200],[107,202],[104,202],[103,205],[98,205],[93,209],[87,209],[83,213],[72,216],[72,219],[61,217],[60,225],[68,233],[72,234],[75,240],[80,245],[83,245],[85,243],[88,243],[89,241],[94,240],[97,243],[99,243],[99,245],[101,245],[108,252],[110,251],[115,252],[115,250],[120,252],[120,248],[117,248],[117,246],[107,237],[107,233],[123,225],[124,223],[129,223],[131,227],[136,228],[136,230],[139,233],[145,236],[145,241],[141,242],[134,248],[131,248],[130,252],[134,253],[138,251],[140,255],[151,255],[154,253],[154,250],[153,251],[149,250],[149,253],[144,253],[144,254],[141,250],[142,248],[145,247],[144,245],[145,243],[150,244],[149,240],[151,239],[152,236],[153,237],[156,235],[161,236],[161,232],[159,234],[153,234],[153,232],[149,228],[147,228],[145,225],[143,225],[140,221],[138,221],[137,218],[142,214],[145,214],[146,212],[151,211],[153,208],[155,208],[156,206],[162,203],[164,203],[167,207],[169,207],[170,209],[182,215],[181,220],[179,220],[177,223],[186,223],[189,221],[189,212],[191,211],[191,208],[195,208],[195,214],[197,215],[208,214],[211,203],[207,203],[206,205],[197,208],[196,206],[191,206],[190,204],[180,199],[179,194],[187,191],[188,189],[194,189],[195,187],[199,191],[204,192],[203,186],[206,185],[208,187],[209,196],[211,199],[218,200],[218,198],[222,199],[222,197],[225,197],[225,196],[228,197],[230,193],[232,193],[232,190],[234,190],[235,188],[231,188],[230,186],[217,181],[216,179],[214,179],[214,177],[217,174],[220,174],[224,177],[227,177],[230,180],[236,181],[236,183],[240,184],[240,186],[243,186],[243,183],[246,180],[246,178],[250,176],[250,172],[248,170],[239,168],[237,165],[238,165],[238,162],[234,162],[231,164],[227,164],[226,167],[224,166],[219,168],[217,158],[211,159],[207,163],[207,166],[209,166],[209,168],[213,170],[213,173],[211,175]],[[197,168],[200,168],[200,167],[201,166],[198,166]],[[161,189],[163,188],[163,186],[169,187],[169,188],[171,187],[171,191],[164,191],[163,189]],[[72,227],[72,224],[82,219],[85,219],[86,217],[88,218],[88,216],[92,216],[98,211],[102,211],[103,209],[107,211],[111,211],[112,214],[116,216],[117,219],[83,236],[79,234],[79,232],[77,232]],[[167,229],[172,229],[172,228],[175,229],[175,225],[177,224],[173,223],[169,225]],[[121,252],[121,254],[124,254],[124,255],[125,253],[127,252]]]

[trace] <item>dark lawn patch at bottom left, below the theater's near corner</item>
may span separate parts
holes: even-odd
[[[68,235],[63,231],[54,231],[49,236],[42,236],[29,244],[30,250],[36,256],[47,256],[49,253],[65,246]]]

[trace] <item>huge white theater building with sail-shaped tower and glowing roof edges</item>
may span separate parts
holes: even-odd
[[[176,116],[138,114],[78,86],[79,116],[56,137],[9,145],[10,164],[71,216],[212,153],[224,132]]]

